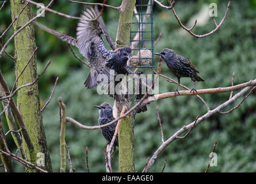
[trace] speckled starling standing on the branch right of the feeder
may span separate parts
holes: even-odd
[[[161,52],[154,53],[155,55],[159,55],[162,57],[162,59],[166,62],[167,67],[170,69],[171,72],[177,77],[178,79],[178,85],[175,89],[175,95],[176,92],[179,94],[178,87],[180,83],[180,78],[182,77],[190,77],[192,81],[193,88],[190,90],[190,92],[196,91],[194,89],[194,82],[198,81],[204,81],[204,79],[201,78],[201,76],[198,75],[199,71],[197,71],[196,67],[190,60],[185,57],[178,55],[175,53],[172,49],[164,48]]]

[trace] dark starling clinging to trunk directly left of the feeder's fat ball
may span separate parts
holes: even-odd
[[[130,47],[122,47],[118,48],[111,56],[110,59],[106,62],[106,66],[110,68],[111,70],[114,70],[116,72],[116,75],[118,74],[132,74],[133,72],[129,69],[127,65],[127,61],[131,57],[132,49]],[[123,78],[120,78],[119,81],[114,80],[114,86],[109,83],[108,86],[108,93],[110,97],[114,97],[117,102],[121,101],[121,94],[116,94],[116,86],[122,81]],[[113,91],[114,94],[110,94],[110,89]]]

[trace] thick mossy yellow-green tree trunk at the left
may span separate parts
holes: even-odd
[[[17,16],[17,14],[25,6],[26,1],[12,0],[11,11],[12,20]],[[17,21],[13,24],[14,33],[26,22],[33,18],[32,7],[28,5],[25,10],[18,17]],[[28,62],[29,57],[33,54],[36,48],[34,26],[30,24],[26,26],[17,36],[14,38],[14,51],[15,51],[15,71],[16,77],[20,75],[20,72],[24,68],[25,64]],[[36,65],[36,55],[30,61],[28,67],[24,73],[20,76],[17,82],[17,86],[25,85],[26,83],[31,83],[37,78],[37,65]],[[33,86],[28,86],[22,88],[17,93],[17,106],[18,110],[24,118],[26,128],[30,139],[32,140],[33,146],[35,148],[36,154],[44,156],[44,163],[41,167],[49,172],[52,171],[51,159],[49,157],[49,150],[46,142],[46,137],[43,127],[43,117],[40,111],[40,99],[39,90],[37,83]],[[28,148],[24,143],[24,153],[26,158],[28,158]],[[43,159],[43,157],[39,158]],[[35,170],[29,170],[30,172]]]

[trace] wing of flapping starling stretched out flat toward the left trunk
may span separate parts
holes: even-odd
[[[54,34],[59,37],[60,40],[66,41],[68,44],[74,45],[75,47],[78,47],[77,39],[73,38],[72,36],[68,36],[67,34],[60,33],[56,30],[50,29],[47,26],[35,21],[34,22],[39,28],[45,30],[48,33]]]

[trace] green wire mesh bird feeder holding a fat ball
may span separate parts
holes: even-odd
[[[154,68],[153,0],[137,0],[133,12],[130,47],[131,68]]]

